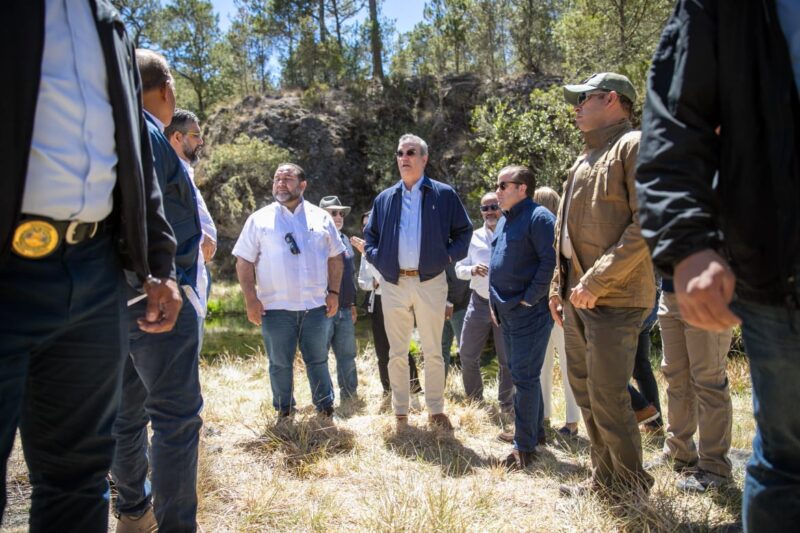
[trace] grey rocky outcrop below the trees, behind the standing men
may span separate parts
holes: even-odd
[[[314,203],[335,194],[353,207],[345,232],[360,232],[360,214],[372,199],[398,179],[394,151],[403,133],[430,146],[427,173],[467,195],[476,180],[463,167],[470,146],[472,110],[489,97],[524,102],[534,88],[559,80],[520,77],[489,82],[472,74],[420,77],[359,90],[312,89],[280,96],[249,96],[216,111],[205,125],[209,152],[246,134],[284,148],[309,177],[306,198]],[[250,179],[256,207],[272,201],[274,168]],[[202,167],[199,176],[203,177]],[[220,226],[218,274],[233,272],[229,252],[248,213],[228,209],[218,191],[230,176],[207,176],[201,189]],[[478,180],[479,181],[479,180]]]

